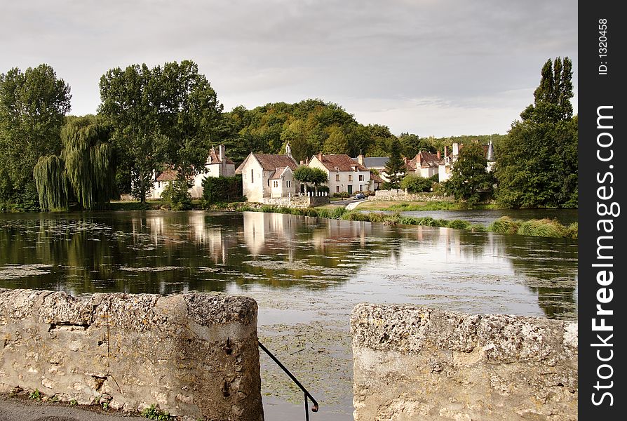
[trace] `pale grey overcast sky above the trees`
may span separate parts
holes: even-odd
[[[0,73],[51,65],[70,114],[114,67],[193,60],[229,111],[320,98],[420,137],[507,133],[549,58],[573,63],[572,0],[3,1]]]

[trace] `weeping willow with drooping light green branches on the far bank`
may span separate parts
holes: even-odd
[[[41,207],[67,208],[78,201],[82,208],[102,208],[113,199],[115,166],[109,131],[95,116],[67,118],[61,129],[61,156],[42,156],[33,175]]]

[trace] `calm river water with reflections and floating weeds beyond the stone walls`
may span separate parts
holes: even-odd
[[[321,403],[311,419],[351,420],[353,305],[576,319],[577,241],[273,213],[0,214],[0,288],[249,295],[260,340]],[[303,419],[264,357],[266,419]]]

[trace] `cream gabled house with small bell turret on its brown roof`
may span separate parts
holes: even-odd
[[[288,197],[300,191],[300,183],[293,176],[296,167],[287,144],[285,155],[250,153],[235,173],[242,175],[242,190],[248,201],[262,203],[264,198]]]

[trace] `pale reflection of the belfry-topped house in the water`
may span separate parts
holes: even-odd
[[[294,253],[297,220],[283,213],[244,212],[244,242],[252,255],[264,253],[288,253],[290,261]],[[271,251],[275,250],[275,252]]]

